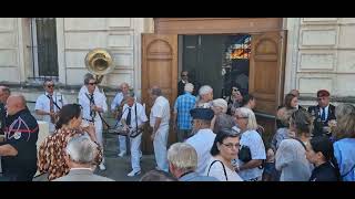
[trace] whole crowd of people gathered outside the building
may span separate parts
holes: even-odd
[[[329,92],[320,90],[317,105],[298,105],[300,92],[291,91],[275,113],[276,129],[271,140],[255,117],[257,102],[239,85],[226,98],[214,98],[213,88],[203,85],[194,95],[189,73],[181,73],[179,96],[170,105],[159,86],[150,90],[153,105],[148,117],[128,83],[111,103],[118,136],[118,156],[128,154],[129,177],[141,170],[141,142],[144,126],[151,128],[156,167],[141,181],[354,181],[355,107],[334,106]],[[44,94],[36,103],[36,114],[49,123],[50,135],[37,151],[39,125],[22,95],[11,95],[0,86],[0,156],[2,178],[32,180],[48,174],[53,181],[110,181],[94,175],[104,170],[102,114],[106,97],[92,75],[85,75],[79,104],[68,104],[45,80]],[[171,111],[173,112],[172,117]],[[168,146],[170,129],[178,143]],[[145,132],[146,133],[146,132]],[[130,145],[126,145],[130,143]]]

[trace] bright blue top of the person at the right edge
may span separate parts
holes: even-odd
[[[334,156],[339,166],[343,180],[355,181],[355,138],[344,138],[337,140],[333,146]]]

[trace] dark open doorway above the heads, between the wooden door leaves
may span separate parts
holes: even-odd
[[[248,92],[250,34],[182,35],[180,39],[183,40],[180,71],[189,71],[196,93],[205,84],[213,87],[214,98],[231,95],[231,86],[235,84]]]

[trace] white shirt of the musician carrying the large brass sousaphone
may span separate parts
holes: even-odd
[[[90,97],[89,93],[79,94],[78,96],[79,104],[82,106],[82,118],[91,121],[90,100],[85,94],[88,94],[88,96]],[[94,92],[93,101],[98,107],[101,107],[103,109],[103,112],[108,111],[106,97],[104,96],[104,94],[100,92]],[[99,121],[99,119],[100,119],[100,116],[99,114],[97,114],[94,121]]]

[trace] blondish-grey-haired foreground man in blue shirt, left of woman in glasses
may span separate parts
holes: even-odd
[[[197,167],[197,153],[186,143],[175,143],[168,150],[170,172],[180,181],[217,181],[214,177],[200,176],[195,172]]]

